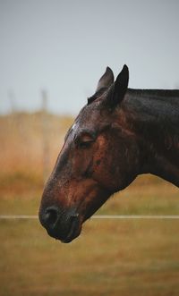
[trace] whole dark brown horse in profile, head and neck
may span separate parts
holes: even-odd
[[[128,89],[110,68],[67,132],[44,190],[39,220],[69,242],[116,191],[141,173],[179,187],[179,90]]]

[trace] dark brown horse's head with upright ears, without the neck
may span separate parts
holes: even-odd
[[[123,108],[129,71],[114,81],[110,68],[67,132],[43,192],[39,220],[47,233],[69,242],[116,191],[138,174],[139,147]]]

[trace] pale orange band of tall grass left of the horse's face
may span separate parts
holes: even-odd
[[[52,114],[20,113],[1,116],[1,174],[22,172],[42,175],[44,141],[47,141],[50,170],[64,142],[64,134],[71,124],[71,117]]]

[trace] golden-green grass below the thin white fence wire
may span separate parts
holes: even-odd
[[[37,221],[0,224],[0,295],[177,296],[179,222],[90,221],[64,245]]]

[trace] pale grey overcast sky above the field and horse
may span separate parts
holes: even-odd
[[[0,0],[0,113],[47,89],[50,111],[78,114],[124,63],[131,88],[179,88],[179,1]]]

